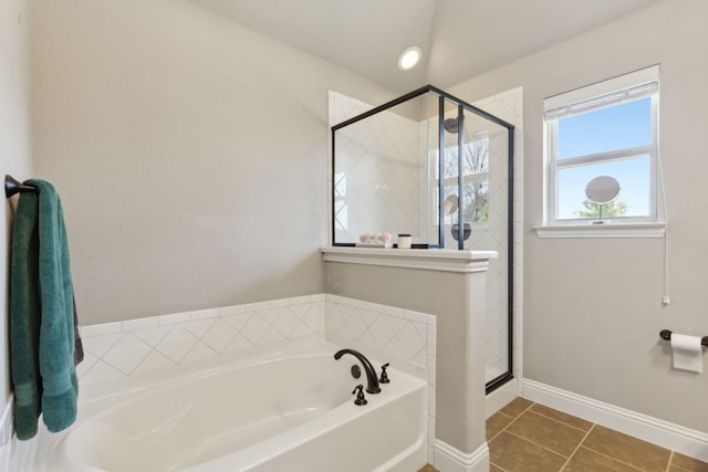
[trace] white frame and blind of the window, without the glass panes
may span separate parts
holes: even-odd
[[[582,225],[589,218],[559,218],[559,172],[573,167],[614,162],[648,156],[648,214],[636,217],[614,217],[623,223],[658,222],[658,65],[646,67],[603,82],[576,88],[543,101],[544,143],[544,225]],[[650,98],[650,143],[645,146],[616,148],[559,159],[559,122],[563,118],[618,106],[625,103]],[[622,183],[622,182],[621,182]],[[603,227],[603,225],[601,225]],[[605,225],[606,227],[606,225]]]

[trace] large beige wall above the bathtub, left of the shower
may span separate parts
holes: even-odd
[[[393,95],[181,1],[34,17],[37,174],[82,325],[324,291],[327,90]]]

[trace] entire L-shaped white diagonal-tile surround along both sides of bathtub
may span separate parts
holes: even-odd
[[[435,441],[436,317],[317,294],[80,328],[82,386],[304,336],[323,336],[428,380],[428,461]],[[376,366],[378,368],[378,366]]]

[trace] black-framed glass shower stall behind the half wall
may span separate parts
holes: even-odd
[[[493,250],[487,392],[512,378],[513,125],[427,85],[332,127],[332,242]]]

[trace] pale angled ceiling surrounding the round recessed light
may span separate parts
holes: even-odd
[[[188,0],[392,91],[445,88],[665,0]],[[398,55],[423,50],[415,69]]]

